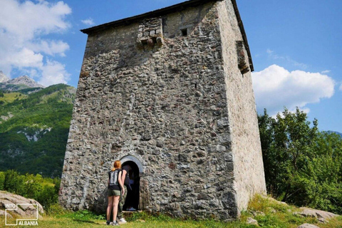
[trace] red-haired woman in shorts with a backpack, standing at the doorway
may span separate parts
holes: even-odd
[[[121,192],[125,194],[122,180],[121,162],[116,160],[114,167],[108,172],[108,207],[107,207],[107,224],[110,224],[110,212],[113,208],[113,225],[118,226],[116,216],[118,215],[118,204]]]

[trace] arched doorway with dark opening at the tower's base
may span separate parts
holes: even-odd
[[[129,165],[131,170],[130,176],[130,187],[128,187],[127,197],[125,204],[123,205],[124,211],[134,211],[141,209],[139,206],[140,202],[140,177],[144,172],[140,160],[132,155],[125,156],[121,159],[122,167]]]

